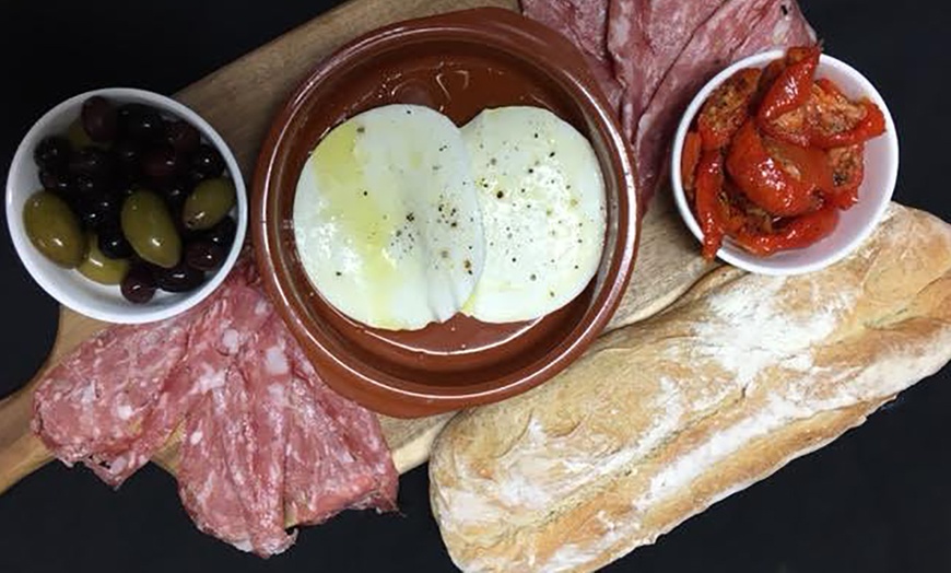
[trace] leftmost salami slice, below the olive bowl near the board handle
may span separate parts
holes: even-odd
[[[34,432],[69,465],[82,460],[101,475],[121,470],[115,456],[139,436],[186,346],[186,319],[103,330],[44,376],[34,395]]]

